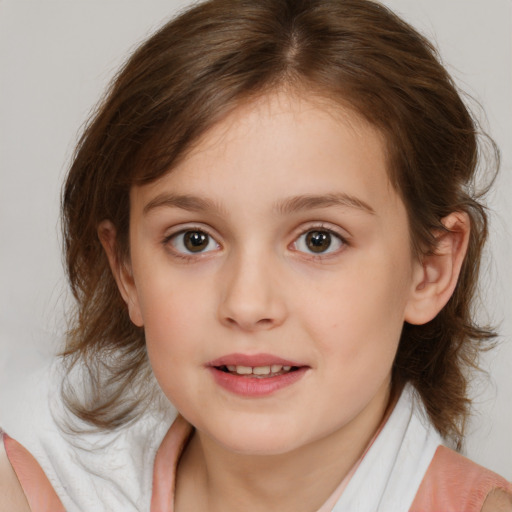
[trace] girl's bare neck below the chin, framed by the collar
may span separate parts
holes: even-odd
[[[195,432],[180,459],[175,509],[318,510],[363,456],[387,405],[365,410],[343,428],[278,455],[234,453]]]

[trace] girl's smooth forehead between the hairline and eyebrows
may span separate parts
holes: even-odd
[[[228,197],[248,206],[329,193],[358,198],[376,211],[401,204],[388,179],[379,130],[349,108],[284,92],[237,107],[169,173],[134,187],[132,206],[144,208],[163,189],[219,205]]]

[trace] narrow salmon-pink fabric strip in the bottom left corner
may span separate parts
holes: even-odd
[[[1,434],[7,458],[32,512],[66,512],[36,459],[7,434]]]

